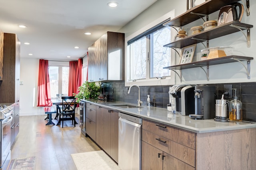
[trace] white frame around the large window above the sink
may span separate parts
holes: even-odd
[[[164,16],[158,18],[157,20],[153,21],[152,23],[150,23],[149,25],[143,27],[142,29],[136,31],[135,33],[133,33],[132,35],[128,36],[125,38],[125,61],[127,61],[127,42],[130,39],[133,39],[134,37],[140,35],[141,33],[147,31],[148,29],[154,27],[155,25],[159,24],[160,22],[168,19],[168,18],[174,18],[175,17],[175,10],[172,10],[171,12],[165,14]],[[175,29],[171,29],[171,37],[174,37],[176,35],[177,31]],[[170,37],[170,38],[171,38]],[[168,48],[168,47],[166,47]],[[171,65],[174,65],[176,63],[176,52],[174,50],[171,50]],[[138,85],[138,86],[164,86],[164,85],[174,85],[175,84],[175,72],[171,71],[170,72],[170,76],[167,76],[165,79],[158,79],[158,78],[149,78],[150,77],[150,71],[146,72],[146,79],[140,79],[140,80],[136,80],[136,81],[132,81],[132,80],[127,80],[126,76],[127,76],[127,66],[128,64],[125,64],[125,86],[132,86],[134,84]],[[148,70],[150,67],[150,64],[147,64]]]

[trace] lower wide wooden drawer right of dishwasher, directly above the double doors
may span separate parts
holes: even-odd
[[[195,167],[196,151],[190,147],[186,147],[144,129],[142,130],[142,141],[145,141],[146,143],[149,143],[167,154],[170,154],[175,158],[178,158],[179,160],[182,160],[183,162]]]

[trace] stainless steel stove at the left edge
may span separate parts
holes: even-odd
[[[0,106],[0,170],[6,170],[11,160],[11,122],[12,106]]]

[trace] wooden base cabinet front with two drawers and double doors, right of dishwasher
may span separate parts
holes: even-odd
[[[195,133],[143,119],[142,170],[195,170],[195,156]]]

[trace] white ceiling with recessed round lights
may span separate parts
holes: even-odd
[[[118,6],[110,8],[111,0],[0,0],[0,29],[18,35],[20,57],[77,60],[104,33],[118,31],[156,1],[114,0]]]

